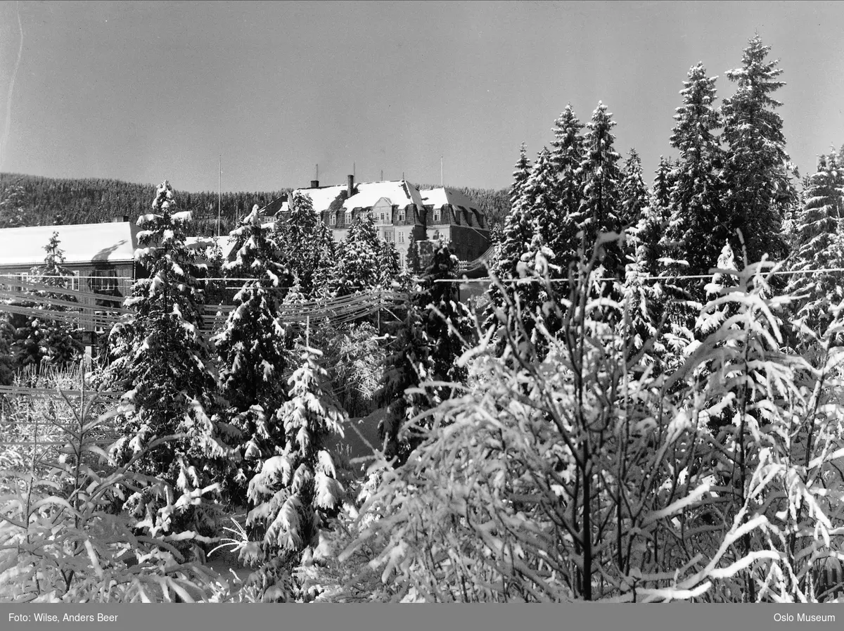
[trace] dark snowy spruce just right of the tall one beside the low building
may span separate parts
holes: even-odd
[[[269,229],[262,228],[257,205],[231,231],[235,259],[223,272],[246,278],[235,294],[234,309],[213,338],[219,355],[219,380],[229,403],[228,422],[238,432],[230,440],[240,461],[230,481],[232,500],[246,503],[246,483],[258,462],[284,447],[284,427],[276,417],[286,399],[282,375],[287,366],[286,332],[279,321],[279,305],[291,284]]]

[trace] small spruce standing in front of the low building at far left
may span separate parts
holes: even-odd
[[[38,370],[42,364],[63,367],[76,361],[83,351],[78,340],[79,327],[73,321],[60,314],[67,312],[68,306],[61,303],[75,303],[76,298],[62,292],[67,289],[73,276],[64,267],[64,251],[59,247],[61,241],[54,232],[44,246],[46,257],[44,264],[30,270],[33,283],[55,288],[32,291],[32,302],[27,305],[41,310],[55,311],[59,317],[51,319],[43,315],[12,315],[10,322],[14,327],[11,353],[18,368],[31,366]]]

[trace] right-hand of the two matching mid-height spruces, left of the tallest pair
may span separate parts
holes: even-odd
[[[576,172],[583,187],[575,221],[582,231],[581,243],[585,252],[592,251],[598,235],[621,229],[622,175],[618,165],[619,154],[613,148],[615,137],[612,129],[615,125],[607,106],[598,102],[598,107],[592,112],[592,120],[587,123],[585,153]],[[604,269],[609,275],[620,274],[624,266],[619,246],[609,243],[605,252]]]

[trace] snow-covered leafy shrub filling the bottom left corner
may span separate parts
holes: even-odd
[[[21,428],[25,460],[3,461],[0,600],[195,601],[225,591],[214,572],[185,563],[178,537],[138,535],[138,521],[114,510],[127,488],[154,481],[108,458],[115,413],[94,413],[96,392],[62,399]]]

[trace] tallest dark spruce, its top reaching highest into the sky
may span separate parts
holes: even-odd
[[[725,178],[730,239],[736,244],[733,235],[741,229],[750,262],[765,254],[773,260],[785,255],[782,220],[797,198],[782,118],[774,111],[782,104],[771,98],[785,84],[777,79],[782,74],[778,62],[765,61],[769,51],[759,35],[749,40],[742,67],[727,71],[738,88],[722,105],[723,136],[729,145]]]

